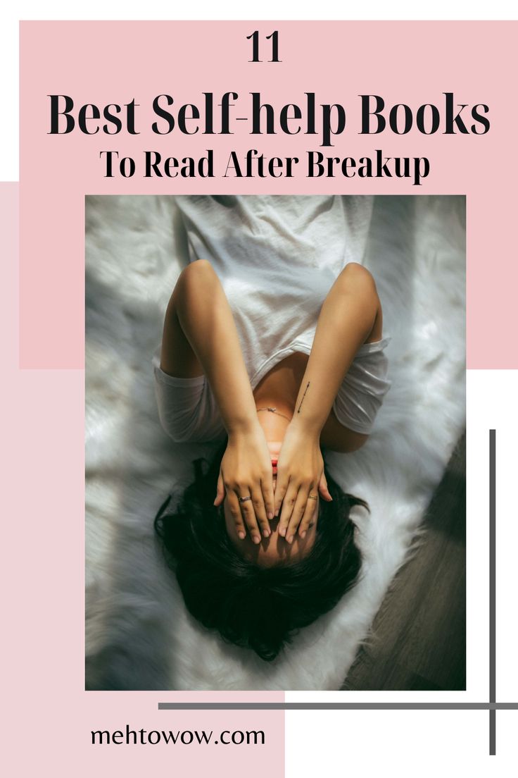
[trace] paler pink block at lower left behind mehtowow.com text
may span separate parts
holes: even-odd
[[[18,286],[18,192],[0,184],[2,290]],[[283,692],[85,692],[84,373],[19,370],[16,294],[3,296],[1,311],[2,437],[11,455],[2,492],[15,506],[2,524],[9,774],[42,765],[56,776],[140,778],[154,768],[198,776],[220,766],[228,776],[245,767],[252,778],[283,776],[283,711],[158,710],[158,702],[282,702]],[[213,740],[222,730],[263,730],[266,746],[90,745],[91,730],[126,724],[213,730]]]

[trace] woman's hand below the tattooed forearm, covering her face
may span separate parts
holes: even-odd
[[[332,499],[318,436],[289,426],[277,462],[275,487],[276,515],[282,503],[279,534],[288,543],[293,542],[297,529],[305,537],[317,507],[317,492],[328,502]]]

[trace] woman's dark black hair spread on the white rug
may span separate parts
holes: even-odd
[[[194,462],[194,482],[161,506],[155,531],[194,618],[272,661],[298,628],[334,608],[355,584],[361,556],[349,510],[367,503],[342,492],[326,471],[332,502],[320,500],[308,555],[290,564],[255,565],[238,554],[223,511],[213,504],[222,453],[208,469],[203,460]]]

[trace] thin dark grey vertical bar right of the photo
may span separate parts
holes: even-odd
[[[496,430],[489,430],[489,702],[496,702]],[[496,754],[496,711],[489,711],[489,755]]]

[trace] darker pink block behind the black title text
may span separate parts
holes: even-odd
[[[249,62],[253,29],[261,40],[279,31],[280,63]],[[459,42],[462,42],[460,49]],[[82,368],[84,364],[84,196],[87,193],[335,192],[466,194],[468,198],[468,367],[513,368],[516,350],[502,333],[512,328],[516,263],[513,261],[513,159],[516,101],[516,23],[477,22],[25,22],[21,25],[21,311],[20,364]],[[460,53],[462,52],[462,54]],[[481,55],[483,52],[483,56]],[[265,55],[266,56],[266,55]],[[181,75],[180,75],[181,74]],[[319,149],[304,135],[154,135],[151,101],[174,96],[174,107],[216,102],[238,93],[248,115],[249,93],[259,91],[276,109],[304,106],[314,91],[320,103],[349,108],[347,130],[329,156],[426,156],[429,176],[416,187],[392,178],[222,177],[231,150],[243,156],[303,157]],[[445,97],[486,103],[486,135],[444,135]],[[49,94],[80,103],[140,103],[140,135],[49,135]],[[360,94],[387,105],[440,107],[441,130],[422,135],[385,131],[360,135]],[[244,111],[244,113],[243,113]],[[238,113],[233,114],[238,115]],[[469,115],[469,114],[468,114]],[[217,124],[216,119],[214,120]],[[468,122],[469,125],[469,122]],[[248,126],[248,125],[246,125]],[[141,159],[144,149],[198,157],[217,149],[214,178],[103,177],[99,152],[118,149]]]

